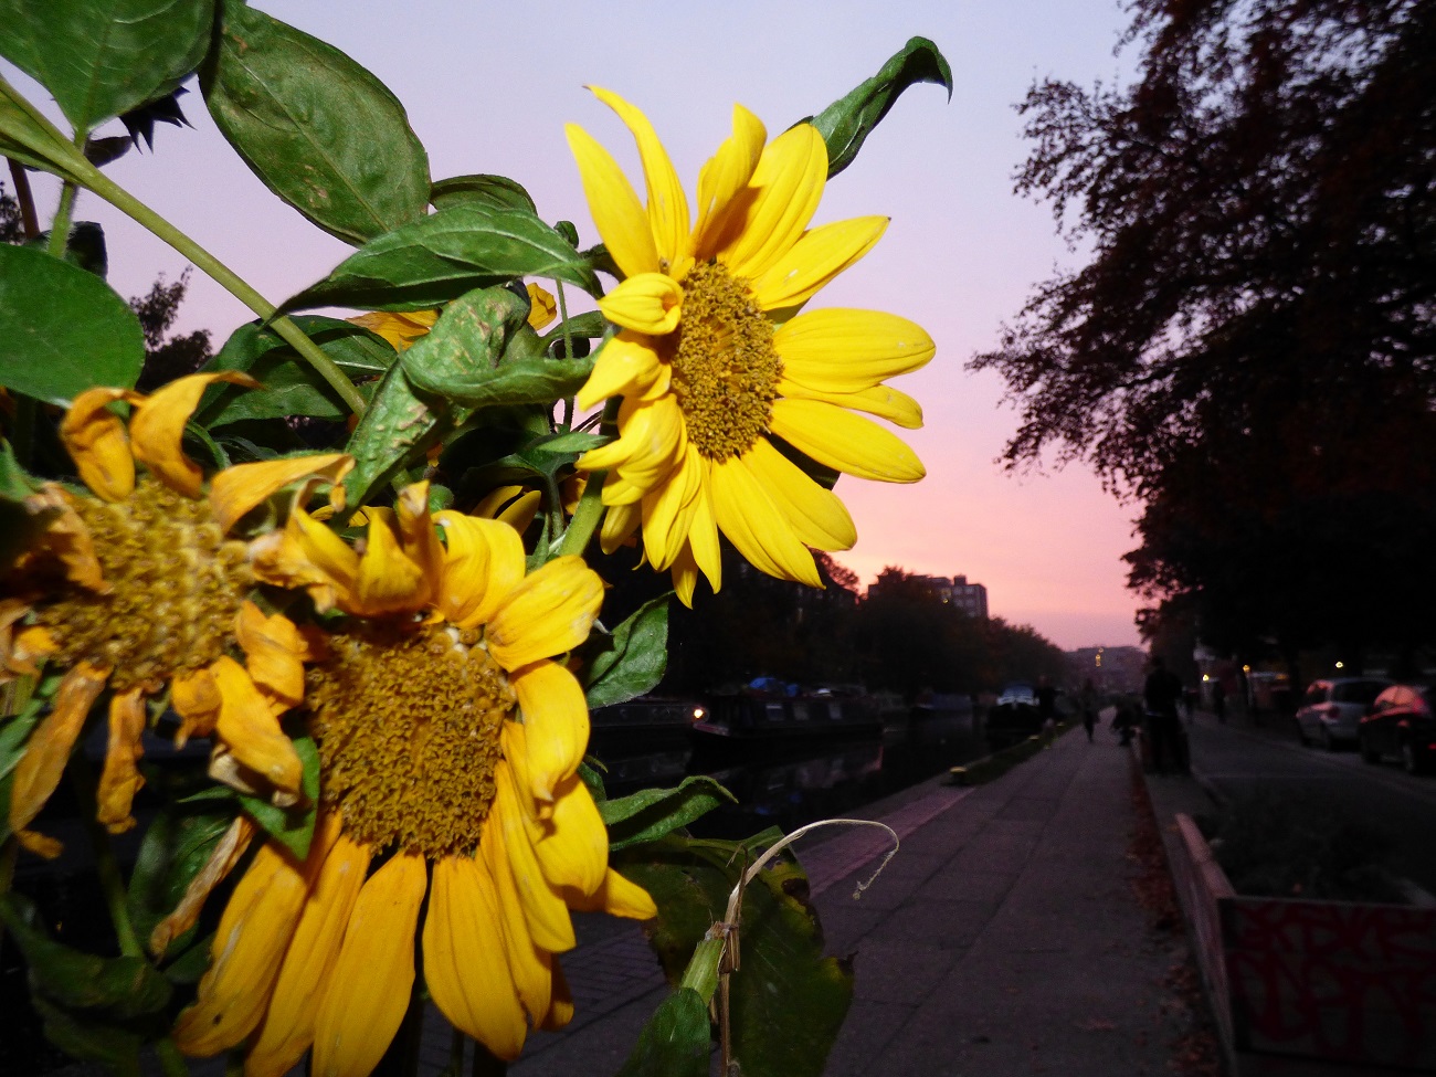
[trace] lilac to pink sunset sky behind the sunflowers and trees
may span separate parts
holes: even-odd
[[[928,467],[913,487],[844,480],[859,528],[839,560],[870,582],[887,564],[966,574],[987,584],[991,612],[1030,623],[1063,648],[1136,643],[1136,599],[1122,554],[1136,541],[1136,505],[1117,504],[1084,468],[1012,477],[995,458],[1015,426],[995,375],[971,375],[999,323],[1031,286],[1077,256],[1054,236],[1045,205],[1020,201],[1011,177],[1025,155],[1011,108],[1047,75],[1116,80],[1124,26],[1114,0],[908,0],[771,3],[663,0],[491,6],[258,0],[257,7],[343,49],[406,105],[435,178],[500,172],[526,184],[547,220],[596,240],[563,123],[577,122],[638,177],[632,142],[584,83],[642,108],[692,191],[698,168],[742,102],[770,134],[870,76],[908,37],[931,37],[952,63],[948,103],[936,86],[909,90],[857,162],[829,187],[817,223],[889,214],[883,241],[813,306],[892,310],[919,322],[938,356],[898,388],[922,401],[926,426],[905,434]],[[1126,59],[1126,56],[1123,57]],[[52,115],[34,83],[6,69]],[[198,93],[184,101],[195,131],[162,128],[155,155],[131,154],[109,174],[190,233],[273,300],[313,283],[348,248],[279,202],[224,145]],[[115,125],[119,131],[118,123]],[[103,134],[111,134],[105,131]],[[49,210],[52,188],[40,187]],[[111,283],[123,296],[171,279],[184,260],[93,198],[80,220],[109,237]],[[185,329],[223,340],[251,316],[195,276]]]

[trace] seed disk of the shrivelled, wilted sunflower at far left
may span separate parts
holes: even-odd
[[[244,543],[225,540],[210,503],[151,478],[123,501],[75,501],[111,590],[69,587],[39,610],[56,661],[113,666],[111,685],[123,691],[220,658],[254,577]]]

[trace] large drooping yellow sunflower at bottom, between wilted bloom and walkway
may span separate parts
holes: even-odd
[[[514,1058],[530,1027],[572,1015],[554,958],[574,945],[569,910],[655,915],[607,867],[577,774],[587,707],[553,659],[587,636],[599,577],[579,557],[526,574],[513,527],[431,520],[426,484],[365,511],[362,553],[296,507],[256,557],[261,577],[350,616],[309,671],[309,854],[258,850],[175,1028],[188,1054],[247,1044],[248,1077],[310,1047],[313,1073],[369,1073],[409,1004],[416,932],[434,1002]]]

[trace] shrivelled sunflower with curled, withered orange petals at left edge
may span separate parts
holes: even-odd
[[[180,439],[215,381],[257,385],[224,372],[181,378],[151,396],[86,389],[62,419],[60,438],[93,497],[49,482],[27,501],[47,524],[0,582],[0,681],[34,676],[42,659],[66,671],[10,794],[11,830],[42,856],[60,844],[29,824],[106,689],[98,819],[111,831],[135,824],[145,701],[167,684],[181,717],[178,742],[215,737],[215,777],[263,788],[280,804],[299,797],[300,761],[277,715],[303,694],[309,648],[286,617],[248,600],[248,544],[231,531],[281,487],[316,475],[337,482],[350,461],[330,454],[240,464],[215,474],[205,494],[204,472]],[[116,401],[132,408],[128,428],[111,411]],[[246,665],[233,656],[236,645]]]

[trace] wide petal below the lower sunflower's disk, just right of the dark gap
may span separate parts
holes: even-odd
[[[424,918],[424,979],[455,1028],[513,1061],[528,1028],[508,969],[500,908],[484,860],[438,860]]]

